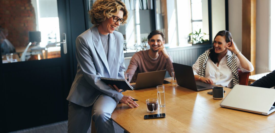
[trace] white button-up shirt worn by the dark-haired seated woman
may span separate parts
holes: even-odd
[[[231,51],[227,50],[227,55],[231,55]],[[237,67],[240,69],[242,72],[251,72],[254,70],[254,67],[251,62],[249,62],[249,65],[251,66],[251,71],[248,71],[244,68],[241,67],[241,63],[239,58],[236,58],[237,61]],[[206,67],[205,67],[205,76],[206,78],[212,79],[214,84],[216,85],[221,85],[223,87],[228,87],[230,88],[232,86],[232,79],[233,79],[233,74],[231,69],[227,66],[227,56],[224,56],[220,63],[219,67],[217,67],[218,63],[214,63],[210,57],[206,61]],[[199,58],[193,65],[193,72],[194,75],[199,75]]]

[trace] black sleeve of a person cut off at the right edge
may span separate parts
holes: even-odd
[[[275,70],[266,76],[263,76],[262,78],[256,80],[254,83],[252,83],[249,86],[255,86],[255,87],[263,87],[263,88],[271,88],[275,86]]]

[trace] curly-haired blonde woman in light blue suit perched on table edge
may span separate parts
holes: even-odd
[[[111,114],[118,102],[139,105],[121,89],[100,77],[124,79],[123,35],[116,28],[126,23],[128,11],[120,0],[97,0],[90,10],[94,27],[76,38],[77,73],[67,97],[68,132],[87,132],[91,119],[97,132],[114,132]],[[93,114],[92,114],[93,110]]]

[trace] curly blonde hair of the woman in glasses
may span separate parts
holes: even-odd
[[[92,9],[89,11],[91,23],[97,27],[101,22],[105,21],[106,18],[111,18],[112,15],[117,14],[120,10],[123,11],[123,19],[125,20],[122,24],[126,24],[128,10],[122,1],[97,0],[93,4]]]

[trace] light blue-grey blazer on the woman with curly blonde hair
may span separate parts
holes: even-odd
[[[117,102],[122,93],[112,90],[100,77],[124,79],[123,35],[109,34],[108,58],[106,58],[97,27],[92,27],[76,38],[77,73],[67,97],[80,106],[89,107],[102,93]],[[121,88],[123,89],[123,88]]]

